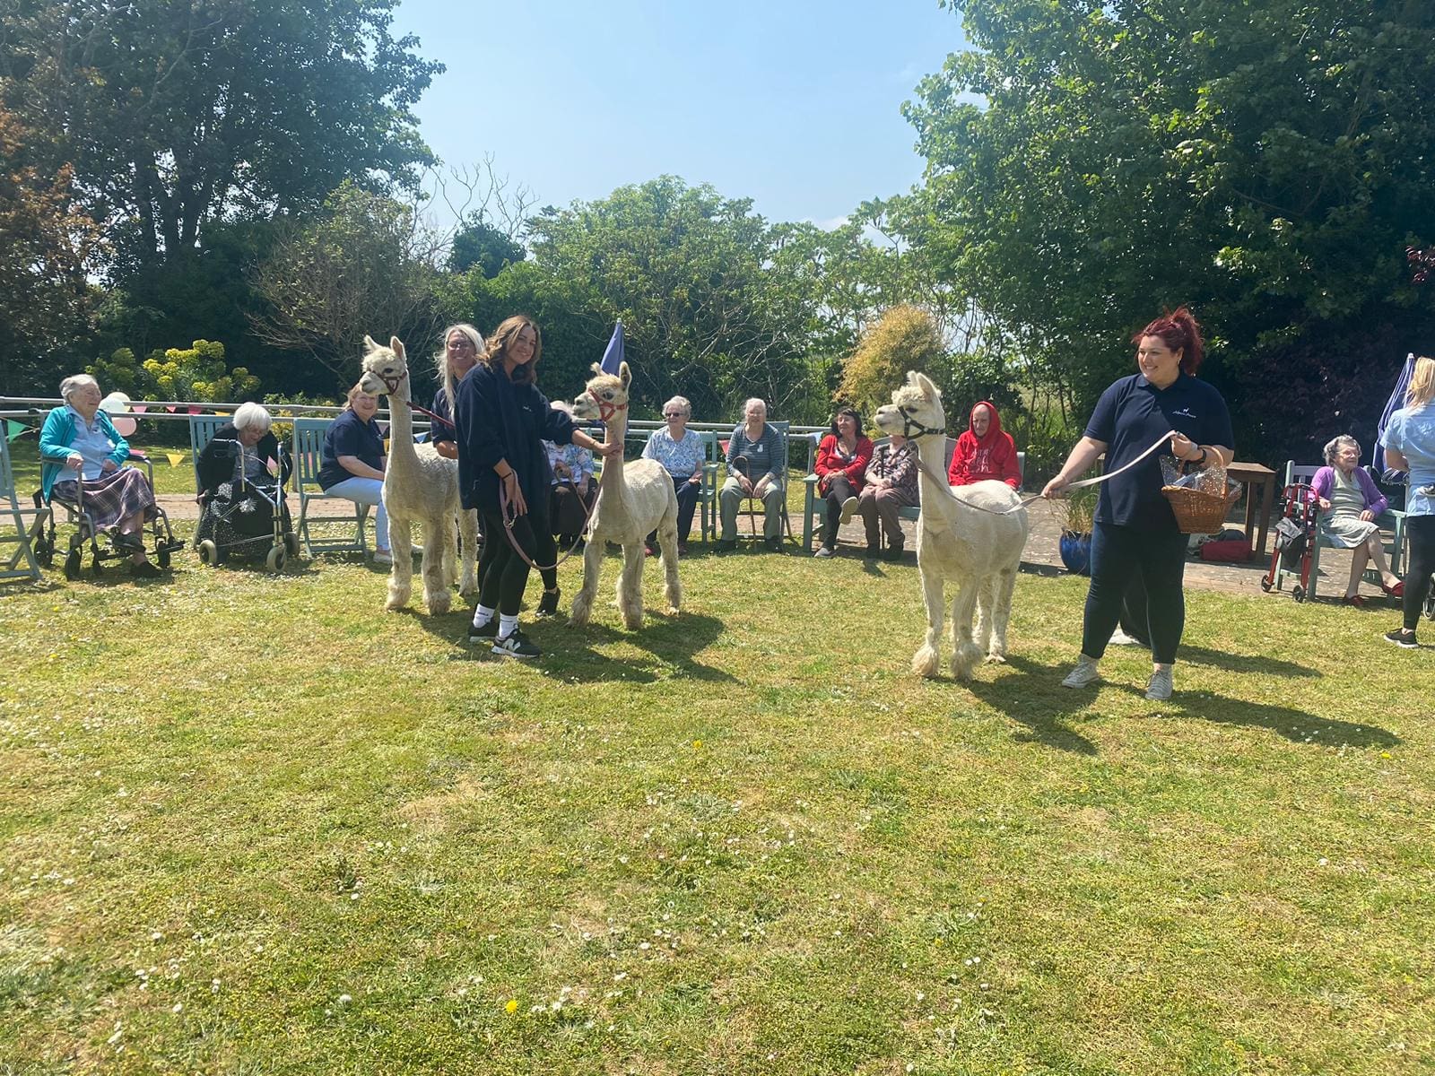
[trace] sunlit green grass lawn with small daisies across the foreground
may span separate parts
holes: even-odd
[[[1058,686],[1078,580],[960,686],[911,565],[697,554],[640,633],[616,571],[537,664],[343,558],[0,590],[0,1072],[1435,1067],[1388,608],[1192,593],[1157,704]]]

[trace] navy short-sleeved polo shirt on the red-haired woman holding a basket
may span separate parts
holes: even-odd
[[[1106,473],[1139,456],[1168,430],[1184,433],[1197,445],[1236,446],[1231,413],[1221,395],[1205,382],[1178,374],[1165,389],[1145,374],[1122,377],[1101,395],[1086,423],[1086,436],[1106,443]],[[1168,461],[1171,445],[1152,452],[1131,471],[1102,482],[1096,519],[1104,524],[1175,531],[1175,515],[1161,495],[1161,458]]]

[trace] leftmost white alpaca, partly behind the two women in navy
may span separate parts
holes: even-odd
[[[389,466],[383,473],[383,506],[389,514],[389,600],[385,608],[409,604],[413,590],[413,557],[409,547],[413,522],[423,524],[423,604],[430,615],[449,611],[449,587],[458,580],[458,548],[453,518],[464,541],[464,575],[459,593],[478,593],[478,514],[465,512],[458,496],[458,462],[445,459],[432,445],[413,443],[413,416],[409,413],[409,364],[403,341],[392,337],[383,347],[372,337],[363,339],[363,376],[360,387],[373,396],[389,397]]]

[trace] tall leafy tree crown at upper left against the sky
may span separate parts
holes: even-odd
[[[95,218],[148,265],[346,178],[416,187],[432,155],[412,106],[443,66],[389,33],[393,3],[14,0],[0,100],[57,135]]]

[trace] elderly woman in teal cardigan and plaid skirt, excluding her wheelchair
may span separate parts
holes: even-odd
[[[40,483],[44,499],[75,504],[85,492],[85,511],[96,529],[115,528],[115,545],[129,551],[131,572],[159,574],[145,557],[145,524],[158,514],[155,491],[142,472],[122,466],[129,443],[99,409],[99,382],[79,373],[60,382],[63,407],[40,428]]]

